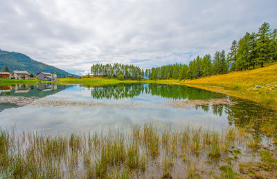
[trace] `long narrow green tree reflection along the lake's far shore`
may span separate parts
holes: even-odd
[[[127,97],[136,97],[140,94],[158,95],[174,100],[209,100],[215,98],[224,98],[225,95],[204,91],[197,88],[178,85],[161,84],[119,84],[116,86],[101,86],[91,89],[91,96],[96,99],[123,99]]]

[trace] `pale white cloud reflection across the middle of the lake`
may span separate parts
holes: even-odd
[[[208,111],[195,107],[175,109],[165,106],[168,99],[170,98],[142,93],[120,100],[95,100],[91,97],[91,89],[76,85],[40,99],[39,101],[45,105],[29,105],[1,112],[0,124],[3,127],[16,124],[21,129],[36,129],[42,133],[124,130],[129,129],[131,125],[145,122],[154,122],[158,127],[170,123],[172,126],[190,125],[210,129],[228,126],[227,115],[224,112],[219,116],[213,113],[211,107]],[[47,104],[47,101],[59,100],[64,100],[67,105]],[[90,104],[96,105],[89,106]]]

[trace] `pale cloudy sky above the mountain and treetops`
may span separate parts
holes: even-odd
[[[141,68],[228,53],[233,40],[277,28],[276,0],[1,0],[0,49],[75,74],[92,64]]]

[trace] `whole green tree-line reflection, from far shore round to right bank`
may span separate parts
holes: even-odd
[[[172,100],[211,100],[226,98],[226,95],[204,91],[198,88],[190,88],[180,85],[161,84],[120,84],[117,86],[102,86],[91,88],[91,96],[95,99],[120,100],[127,97],[137,97],[141,94],[150,94]],[[276,125],[276,111],[267,107],[241,100],[236,97],[229,97],[235,104],[220,105],[198,105],[195,109],[212,111],[214,115],[226,115],[231,126],[247,128],[251,133],[260,134],[267,130],[266,127]]]

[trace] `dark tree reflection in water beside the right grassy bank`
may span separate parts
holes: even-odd
[[[211,110],[214,115],[219,116],[225,113],[230,126],[246,129],[255,135],[256,139],[260,139],[260,134],[271,133],[271,135],[277,136],[276,111],[248,100],[240,100],[235,97],[229,97],[229,100],[235,103],[232,105],[199,105],[195,106],[195,109],[202,109],[205,112]]]

